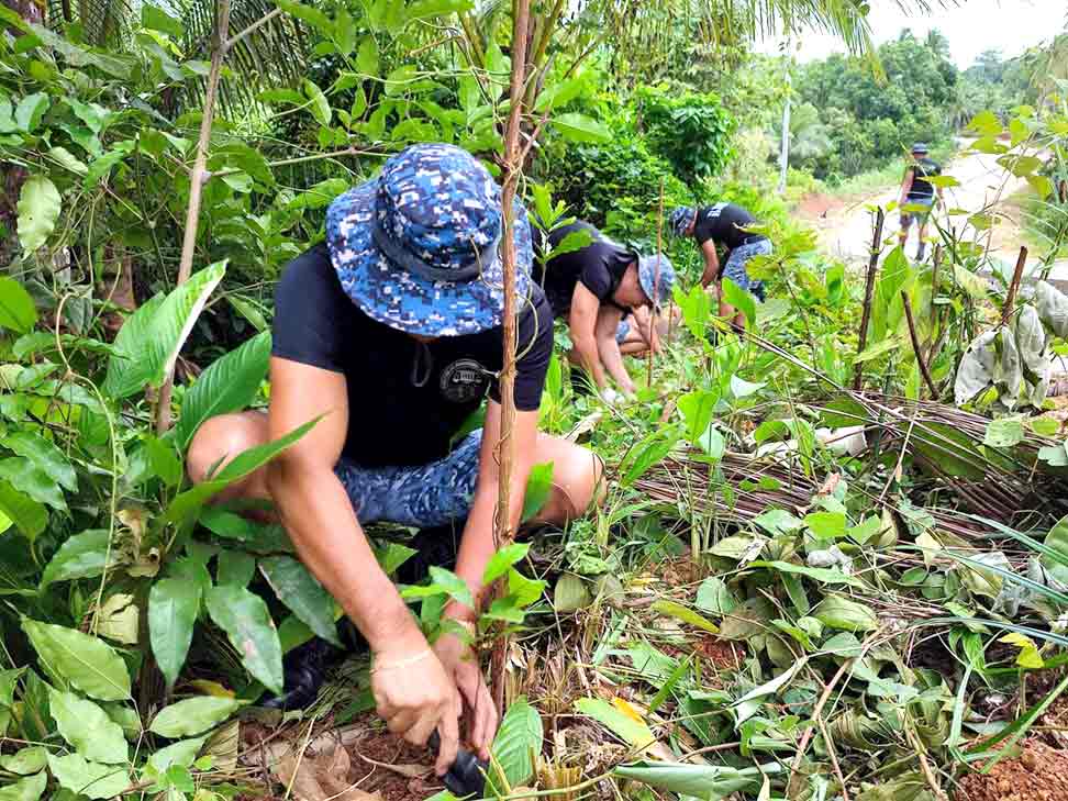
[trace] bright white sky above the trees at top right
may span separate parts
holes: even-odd
[[[937,5],[937,0],[932,4]],[[949,8],[906,16],[893,0],[871,0],[869,19],[876,43],[897,38],[903,27],[911,27],[917,37],[937,27],[949,40],[954,63],[966,69],[987,49],[1001,49],[1005,57],[1020,55],[1053,38],[1068,22],[1066,0],[959,0],[957,4],[946,0],[946,4]],[[761,49],[774,53],[776,43],[765,42]],[[844,49],[833,36],[809,33],[803,36],[798,58],[826,58]]]

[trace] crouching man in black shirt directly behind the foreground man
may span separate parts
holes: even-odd
[[[568,236],[583,233],[580,247],[561,247]],[[635,353],[658,346],[653,318],[644,310],[671,297],[670,259],[663,254],[639,256],[578,220],[558,225],[545,240],[547,258],[537,278],[553,314],[567,320],[571,360],[586,370],[605,401],[619,399],[609,377],[624,396],[633,396],[622,348]]]

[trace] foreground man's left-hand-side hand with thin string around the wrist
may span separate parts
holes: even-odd
[[[437,728],[442,745],[434,770],[444,776],[459,747],[460,698],[450,672],[422,635],[375,652],[371,694],[389,731],[409,743],[426,745]]]

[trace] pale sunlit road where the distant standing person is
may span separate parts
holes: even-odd
[[[961,149],[967,145],[968,142],[961,142]],[[960,181],[960,186],[945,189],[944,209],[966,209],[969,212],[997,209],[1001,212],[991,234],[990,253],[995,262],[1010,265],[1011,269],[1020,252],[1020,210],[1006,201],[1014,192],[1026,186],[1026,181],[1002,169],[997,164],[995,156],[981,153],[968,153],[955,158],[945,167],[944,175],[950,175]],[[900,187],[894,186],[848,201],[827,196],[814,196],[805,198],[799,211],[819,231],[820,245],[824,252],[847,263],[866,262],[868,249],[871,247],[875,223],[875,214],[868,207],[886,208],[888,203],[898,199]],[[897,236],[900,230],[898,218],[897,211],[888,216],[885,236]],[[946,216],[941,219],[947,220]],[[954,216],[952,224],[960,225],[964,219],[964,216]],[[913,227],[908,244],[910,256],[915,254],[915,248],[916,230]],[[1028,259],[1028,272],[1037,266],[1037,258]],[[1068,285],[1068,260],[1056,263],[1050,277]]]

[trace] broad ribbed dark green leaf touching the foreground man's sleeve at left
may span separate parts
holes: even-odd
[[[186,392],[175,426],[178,447],[189,447],[197,429],[209,418],[248,405],[267,375],[269,361],[270,333],[266,331],[213,361]]]

